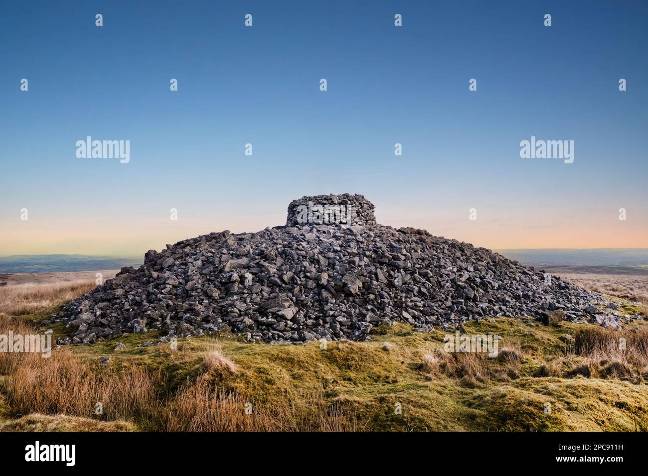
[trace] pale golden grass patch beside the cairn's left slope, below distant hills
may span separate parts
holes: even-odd
[[[26,315],[75,299],[95,288],[95,281],[0,286],[0,315]]]

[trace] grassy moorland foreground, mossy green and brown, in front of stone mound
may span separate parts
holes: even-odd
[[[620,312],[637,308],[623,300]],[[40,327],[46,310],[2,318]],[[371,341],[245,343],[155,332],[0,356],[0,429],[645,431],[648,323],[621,332],[529,319],[465,323],[502,336],[500,355],[443,352],[445,332],[404,324]],[[624,340],[625,339],[625,340]],[[115,350],[122,343],[125,348]],[[110,357],[103,365],[101,357]],[[95,414],[100,402],[103,413]]]

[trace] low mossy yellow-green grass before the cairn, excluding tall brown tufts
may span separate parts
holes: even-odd
[[[22,319],[38,323],[44,317],[41,313]],[[531,322],[534,325],[529,325]],[[133,361],[150,370],[162,369],[165,374],[162,395],[173,396],[184,383],[203,372],[203,356],[218,346],[240,369],[238,374],[217,378],[215,385],[223,391],[235,391],[254,402],[270,405],[279,399],[305,404],[309,397],[318,394],[326,402],[338,405],[343,412],[356,415],[359,429],[647,430],[648,385],[645,380],[632,383],[618,378],[568,375],[570,368],[584,365],[587,359],[570,354],[572,345],[567,335],[575,335],[589,325],[563,322],[558,326],[544,326],[529,319],[511,318],[463,324],[469,334],[502,335],[500,348],[515,345],[522,350],[524,359],[513,376],[496,372],[505,364],[489,359],[487,366],[493,376],[486,381],[424,374],[421,371],[423,356],[443,346],[445,332],[435,330],[419,334],[405,324],[381,326],[371,341],[327,343],[325,349],[320,348],[319,342],[252,344],[233,335],[222,335],[218,339],[181,339],[177,350],[172,350],[169,344],[139,347],[146,341],[156,342],[159,337],[156,331],[128,334],[93,346],[73,345],[71,349],[88,360],[110,356],[109,365]],[[647,325],[641,321],[628,326]],[[60,325],[46,327],[54,329],[55,335],[66,335],[65,328]],[[114,351],[120,342],[126,348]],[[385,342],[391,344],[389,350],[384,350]],[[550,361],[560,361],[564,367],[561,376],[537,376],[542,365]],[[398,406],[402,413],[395,412]],[[0,419],[11,428],[7,423],[12,421],[10,405],[0,401],[0,410]],[[23,422],[24,425],[38,427],[38,422],[34,422],[38,417],[30,418],[31,426]],[[47,427],[46,423],[41,426]],[[49,424],[56,428],[56,424]]]

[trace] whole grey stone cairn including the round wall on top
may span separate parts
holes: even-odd
[[[143,266],[122,268],[54,320],[67,323],[75,343],[150,329],[163,339],[209,332],[272,343],[366,339],[393,321],[426,332],[555,313],[618,326],[593,315],[599,295],[488,249],[378,225],[374,208],[362,195],[303,197],[290,203],[285,226],[213,232],[148,251]]]

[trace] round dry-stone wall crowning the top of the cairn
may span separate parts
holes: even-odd
[[[287,227],[303,225],[375,225],[375,209],[362,195],[316,195],[288,205]]]

